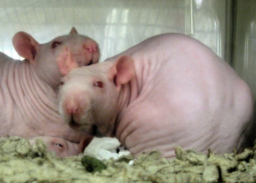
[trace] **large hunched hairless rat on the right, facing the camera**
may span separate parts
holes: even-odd
[[[176,146],[230,153],[253,142],[248,84],[210,48],[183,34],[157,35],[71,71],[59,98],[73,129],[93,134],[97,126],[135,157],[158,149],[171,158]]]

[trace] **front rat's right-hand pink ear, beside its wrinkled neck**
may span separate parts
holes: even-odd
[[[108,74],[117,87],[126,84],[135,76],[134,60],[130,56],[121,56],[115,61]]]

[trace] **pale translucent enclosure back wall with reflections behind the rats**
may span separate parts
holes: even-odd
[[[223,58],[225,0],[1,0],[0,25],[0,51],[16,59],[16,32],[45,43],[72,26],[99,43],[101,61],[166,32],[191,35]]]

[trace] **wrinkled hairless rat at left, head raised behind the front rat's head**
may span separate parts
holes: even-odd
[[[64,123],[58,113],[57,93],[61,77],[99,61],[98,44],[72,28],[70,34],[45,44],[18,32],[13,45],[26,59],[14,60],[0,52],[0,136],[62,138],[79,149],[88,135]]]

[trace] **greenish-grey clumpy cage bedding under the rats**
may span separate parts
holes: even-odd
[[[177,147],[174,159],[160,158],[158,151],[152,151],[133,164],[129,163],[131,155],[83,159],[83,164],[82,158],[59,158],[40,140],[31,147],[28,139],[2,137],[0,182],[256,182],[256,151],[251,149],[238,155],[216,155]]]

